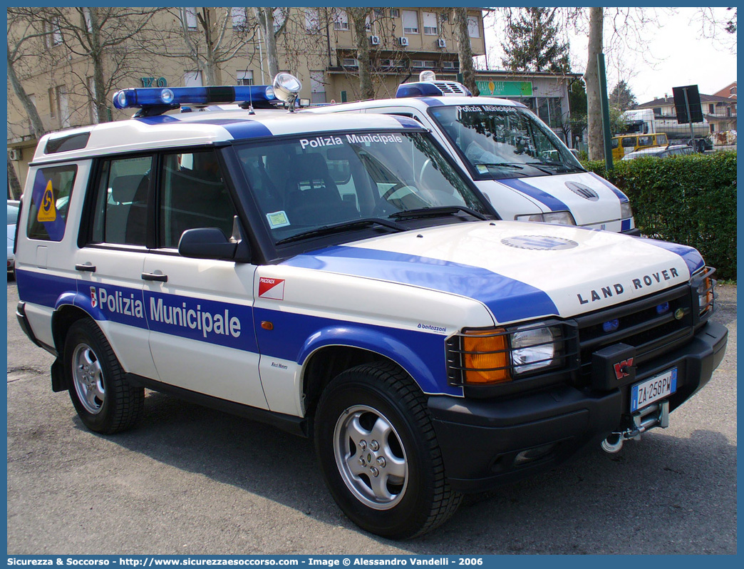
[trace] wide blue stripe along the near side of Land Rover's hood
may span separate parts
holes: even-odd
[[[471,265],[362,247],[329,247],[283,264],[350,276],[365,276],[476,299],[498,322],[558,314],[543,290]]]

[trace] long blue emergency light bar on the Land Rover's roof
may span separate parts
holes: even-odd
[[[276,101],[270,85],[219,86],[219,87],[152,87],[122,89],[114,93],[117,109],[142,109],[145,107],[178,107],[183,104],[211,105]]]

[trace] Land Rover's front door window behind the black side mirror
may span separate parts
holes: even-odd
[[[161,175],[159,247],[175,249],[182,233],[197,227],[232,235],[237,212],[214,150],[166,154]]]

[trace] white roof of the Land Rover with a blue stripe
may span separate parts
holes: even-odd
[[[33,162],[57,161],[62,157],[81,159],[107,153],[214,144],[265,136],[420,127],[412,119],[397,116],[329,117],[305,112],[289,113],[283,109],[257,110],[251,115],[245,109],[218,108],[206,112],[130,118],[51,133],[39,141]],[[65,141],[71,140],[75,142],[65,144]]]

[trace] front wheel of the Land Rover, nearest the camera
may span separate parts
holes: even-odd
[[[336,503],[368,532],[411,538],[460,503],[426,399],[393,363],[356,366],[330,382],[318,403],[315,450]]]

